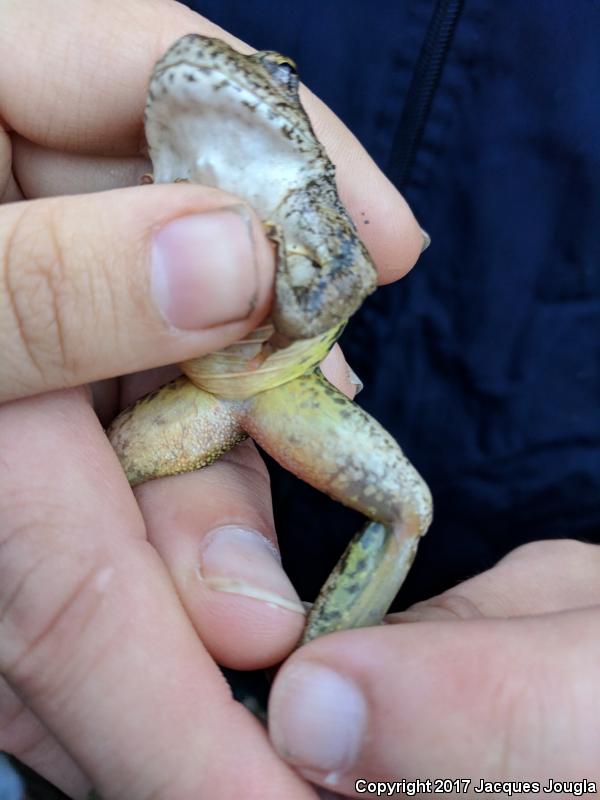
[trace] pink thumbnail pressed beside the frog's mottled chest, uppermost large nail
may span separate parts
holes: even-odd
[[[244,207],[168,222],[154,236],[151,286],[161,315],[175,328],[245,319],[256,299],[257,267]]]

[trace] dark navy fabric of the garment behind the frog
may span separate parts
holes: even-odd
[[[202,0],[292,56],[392,178],[436,3]],[[344,335],[359,402],[431,486],[399,607],[553,537],[600,541],[600,4],[465,0],[403,192],[432,245]],[[360,518],[270,465],[286,567],[317,592]]]

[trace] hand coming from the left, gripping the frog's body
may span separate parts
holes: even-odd
[[[15,0],[1,13],[0,749],[73,796],[91,782],[128,800],[313,797],[215,663],[276,663],[303,624],[256,452],[134,495],[77,388],[222,347],[268,312],[271,249],[255,217],[249,236],[227,211],[237,199],[120,188],[148,168],[156,58],[185,33],[231,37],[166,1]],[[381,280],[399,277],[421,248],[412,214],[339,121],[306,104],[349,209],[371,223]],[[153,237],[178,281],[166,295]],[[104,418],[152,380],[103,383]]]

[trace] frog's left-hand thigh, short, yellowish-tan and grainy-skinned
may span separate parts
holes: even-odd
[[[178,378],[119,414],[108,436],[136,486],[212,464],[246,434],[231,403]]]

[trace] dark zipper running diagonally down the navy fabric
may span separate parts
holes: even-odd
[[[388,174],[399,189],[408,182],[464,0],[438,0],[417,59],[394,136]]]

